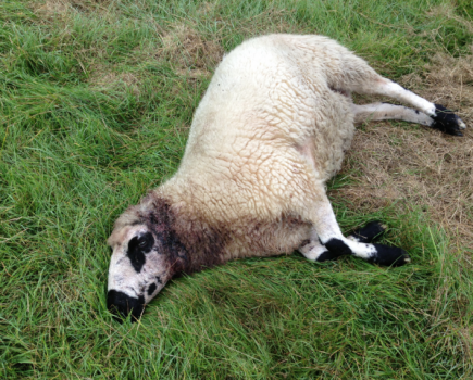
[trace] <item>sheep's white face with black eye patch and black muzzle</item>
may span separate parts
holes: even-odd
[[[113,253],[109,268],[107,304],[116,316],[132,320],[170,279],[170,265],[160,242],[144,225],[127,226],[109,238]]]

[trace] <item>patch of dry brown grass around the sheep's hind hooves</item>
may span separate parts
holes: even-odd
[[[366,125],[354,137],[345,173],[353,186],[336,191],[357,207],[377,211],[393,202],[423,206],[463,248],[473,246],[473,56],[438,54],[424,77],[401,84],[458,111],[469,126],[463,138],[394,123]],[[404,203],[403,201],[408,202]]]

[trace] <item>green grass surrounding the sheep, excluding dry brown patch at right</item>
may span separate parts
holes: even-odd
[[[346,231],[386,220],[412,265],[234,262],[174,280],[135,325],[107,311],[104,242],[176,170],[224,51],[318,33],[399,79],[468,54],[472,17],[446,0],[1,2],[0,377],[470,379],[471,246],[409,199],[332,197]]]

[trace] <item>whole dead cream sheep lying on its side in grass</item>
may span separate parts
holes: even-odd
[[[410,104],[357,105],[351,93]],[[402,119],[462,136],[451,111],[379,76],[322,36],[247,40],[217,66],[197,107],[177,173],[115,221],[108,307],[141,316],[177,274],[299,251],[313,262],[353,255],[399,266],[406,251],[372,243],[374,221],[344,237],[325,183],[354,124]]]

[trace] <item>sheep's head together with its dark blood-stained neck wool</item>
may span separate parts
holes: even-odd
[[[107,303],[119,318],[138,319],[166,282],[225,262],[227,233],[212,228],[184,203],[149,193],[115,221]]]

